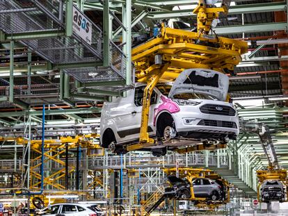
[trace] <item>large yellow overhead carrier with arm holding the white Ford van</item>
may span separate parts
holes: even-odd
[[[147,86],[143,94],[139,143],[126,147],[127,151],[151,147],[156,143],[147,133],[147,124],[150,97],[157,83],[175,81],[179,73],[191,68],[233,74],[234,66],[241,62],[241,54],[248,51],[246,42],[209,35],[211,22],[218,19],[219,13],[227,13],[227,5],[217,8],[200,1],[193,13],[198,15],[197,33],[167,28],[161,24],[157,38],[132,50],[136,78],[138,82],[147,83]]]

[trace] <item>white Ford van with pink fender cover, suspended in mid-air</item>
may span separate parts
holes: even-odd
[[[123,145],[138,142],[145,83],[115,97],[102,108],[100,142],[115,153],[125,153]],[[226,143],[239,134],[239,118],[227,103],[229,78],[211,69],[186,69],[173,85],[157,85],[151,96],[148,132],[157,138],[151,149],[164,155],[167,149],[193,141]]]

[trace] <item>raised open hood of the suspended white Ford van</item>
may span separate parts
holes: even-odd
[[[211,69],[185,69],[176,78],[168,97],[175,94],[208,94],[220,101],[225,101],[229,88],[229,78],[221,72]]]

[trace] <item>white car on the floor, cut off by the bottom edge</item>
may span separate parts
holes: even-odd
[[[40,210],[37,215],[103,216],[104,212],[95,204],[58,203]]]

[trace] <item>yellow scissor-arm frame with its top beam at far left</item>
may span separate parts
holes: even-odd
[[[58,169],[56,172],[50,170],[49,176],[44,178],[44,185],[51,185],[51,187],[56,188],[58,190],[65,190],[65,185],[61,185],[56,183],[60,178],[64,178],[67,173],[65,170],[65,161],[61,160],[60,156],[68,151],[69,149],[76,149],[77,147],[82,147],[88,149],[88,156],[104,156],[104,149],[99,146],[99,144],[93,143],[93,138],[99,138],[97,134],[88,134],[88,135],[75,135],[74,137],[67,136],[61,137],[57,140],[45,140],[44,148],[49,149],[45,151],[44,163],[48,163],[49,161],[54,161],[58,163],[59,167],[63,166],[62,169]],[[24,138],[3,138],[0,137],[0,142],[4,141],[14,141],[17,144],[27,145],[29,140]],[[40,168],[41,163],[39,162],[42,156],[41,145],[42,140],[31,140],[31,150],[33,153],[36,153],[37,156],[31,159],[31,167],[30,167],[30,189],[38,190],[40,188],[41,183],[41,175],[38,173],[37,169]],[[95,149],[97,151],[95,151]],[[75,171],[75,167],[68,165],[68,174],[71,174]]]

